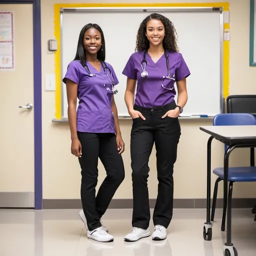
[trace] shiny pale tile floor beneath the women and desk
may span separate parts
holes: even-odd
[[[217,209],[211,241],[204,241],[205,209],[175,209],[167,239],[124,242],[130,209],[109,209],[102,220],[114,236],[111,243],[86,237],[79,209],[0,209],[0,256],[223,256],[225,232]],[[232,242],[239,256],[256,255],[256,222],[251,209],[232,210]],[[153,224],[150,223],[150,230]]]

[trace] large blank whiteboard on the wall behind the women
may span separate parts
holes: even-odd
[[[136,33],[140,22],[152,12],[168,17],[178,35],[179,52],[191,72],[187,77],[188,100],[183,116],[207,114],[214,116],[221,112],[222,104],[222,11],[212,9],[175,10],[166,8],[146,12],[118,8],[109,9],[75,8],[61,9],[61,79],[67,65],[76,52],[80,29],[87,23],[97,23],[103,30],[106,46],[106,62],[109,62],[117,75],[118,93],[114,95],[118,116],[128,117],[124,102],[126,76],[122,70],[134,52]],[[67,117],[66,87],[61,81],[62,117]],[[176,89],[176,86],[175,86]],[[177,90],[176,90],[177,91]],[[177,94],[175,101],[177,100]],[[177,102],[177,101],[176,101]],[[78,105],[78,104],[77,104]]]

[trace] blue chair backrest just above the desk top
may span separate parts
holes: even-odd
[[[213,117],[213,125],[256,125],[256,118],[249,113],[221,113]]]

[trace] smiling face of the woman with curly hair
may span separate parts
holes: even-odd
[[[159,45],[164,38],[165,29],[163,23],[158,19],[150,19],[146,23],[145,35],[150,44]]]

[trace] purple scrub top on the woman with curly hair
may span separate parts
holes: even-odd
[[[137,80],[137,90],[135,95],[135,104],[142,107],[162,106],[174,100],[176,94],[174,83],[190,74],[190,71],[179,52],[167,51],[170,76],[172,79],[163,78],[168,75],[166,58],[164,53],[156,63],[146,53],[146,68],[148,72],[146,77],[141,76],[141,61],[144,50],[137,51],[129,57],[122,74],[131,79]],[[144,63],[143,63],[144,68]],[[162,86],[163,85],[163,86]]]

